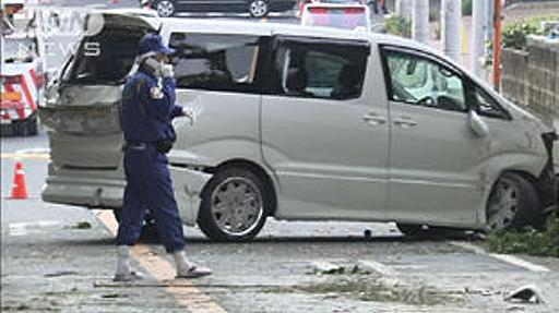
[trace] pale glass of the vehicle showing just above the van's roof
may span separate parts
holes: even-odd
[[[309,7],[304,13],[302,24],[344,29],[369,27],[365,7]]]

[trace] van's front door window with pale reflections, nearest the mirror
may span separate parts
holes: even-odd
[[[393,101],[449,111],[466,111],[462,77],[443,64],[400,51],[385,50]]]

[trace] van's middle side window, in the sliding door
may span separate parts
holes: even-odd
[[[368,49],[342,44],[284,41],[276,51],[280,95],[352,99],[361,95]]]

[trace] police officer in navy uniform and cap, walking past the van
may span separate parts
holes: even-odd
[[[124,205],[117,234],[115,280],[142,279],[130,267],[130,246],[143,227],[145,210],[155,219],[168,253],[173,254],[178,278],[212,274],[210,268],[191,263],[185,252],[185,236],[173,192],[168,159],[165,155],[175,142],[171,120],[186,112],[175,105],[174,52],[158,35],[147,34],[140,40],[139,70],[124,85],[121,121],[124,132]]]

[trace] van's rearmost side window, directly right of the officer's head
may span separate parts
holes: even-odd
[[[177,87],[255,92],[261,39],[246,35],[174,33],[169,46]]]

